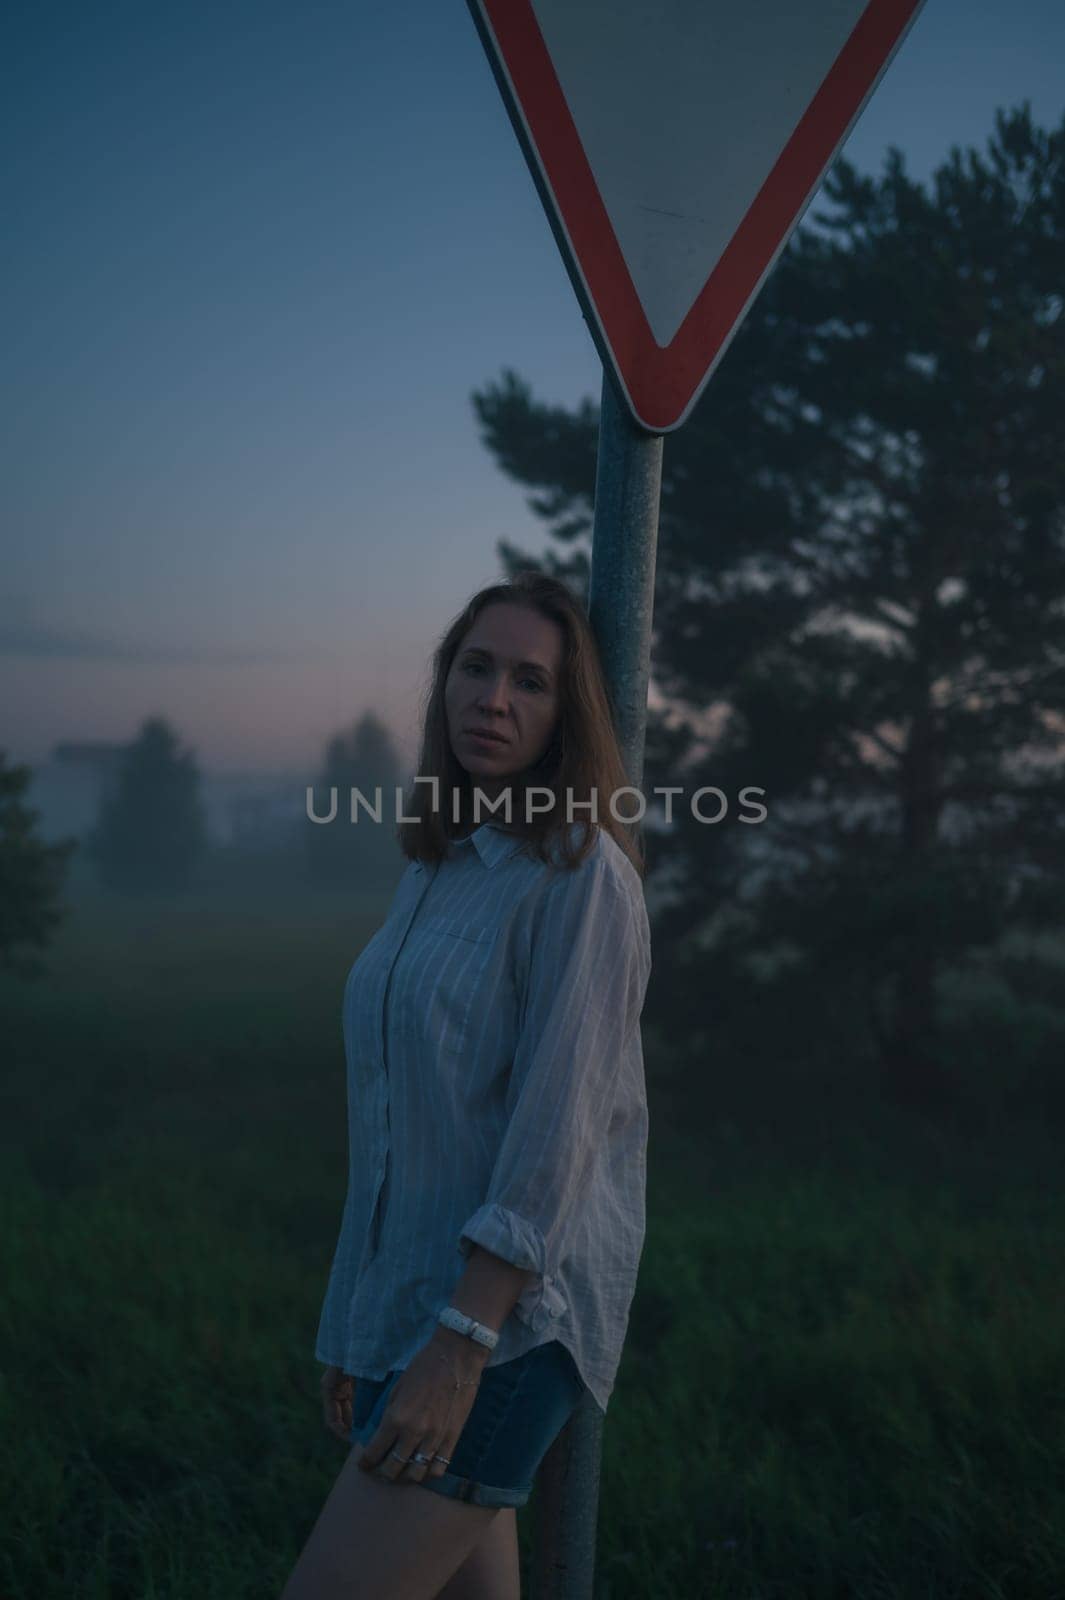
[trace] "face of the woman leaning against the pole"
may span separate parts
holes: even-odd
[[[456,651],[445,683],[448,738],[459,765],[491,800],[552,742],[563,645],[558,622],[494,600]],[[499,738],[477,739],[472,728]],[[449,810],[451,802],[445,805]]]

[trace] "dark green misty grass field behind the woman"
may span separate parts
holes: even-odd
[[[344,1459],[313,1336],[379,915],[85,896],[0,984],[0,1600],[280,1594]],[[646,1059],[596,1600],[1065,1597],[1060,1131],[681,1136]]]

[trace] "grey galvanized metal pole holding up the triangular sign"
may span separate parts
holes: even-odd
[[[604,370],[588,616],[622,760],[636,789],[643,781],[660,486],[662,435],[638,427]],[[608,805],[609,795],[600,795],[600,814]],[[635,795],[617,802],[620,816],[638,810]],[[601,1445],[603,1414],[585,1394],[537,1474],[531,1600],[593,1600]]]

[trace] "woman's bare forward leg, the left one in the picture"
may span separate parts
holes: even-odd
[[[281,1600],[437,1600],[499,1507],[360,1472],[355,1445],[329,1490]]]

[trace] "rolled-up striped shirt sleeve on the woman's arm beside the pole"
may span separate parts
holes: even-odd
[[[638,880],[628,886],[592,858],[548,882],[534,914],[505,1133],[485,1203],[459,1234],[464,1256],[481,1245],[534,1274],[515,1312],[536,1330],[566,1309],[558,1264],[638,1050],[649,973]]]

